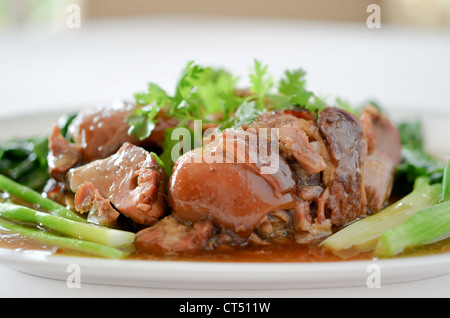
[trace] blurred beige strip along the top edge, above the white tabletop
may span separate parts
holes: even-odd
[[[195,14],[325,21],[363,21],[369,4],[382,7],[383,23],[448,27],[450,0],[1,0],[2,28],[65,26],[66,8],[81,7],[86,20],[145,15]]]

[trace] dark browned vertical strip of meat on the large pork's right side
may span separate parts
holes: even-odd
[[[318,219],[324,221],[328,209],[333,225],[346,225],[367,211],[364,130],[358,118],[339,108],[323,110],[318,126],[335,167],[335,174],[319,201]]]

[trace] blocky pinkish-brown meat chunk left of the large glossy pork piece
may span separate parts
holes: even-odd
[[[75,207],[117,218],[118,211],[138,224],[152,225],[165,211],[166,175],[141,147],[124,143],[119,151],[69,171]]]

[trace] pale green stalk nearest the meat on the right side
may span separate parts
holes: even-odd
[[[441,184],[430,185],[428,178],[418,178],[410,194],[377,214],[333,234],[322,242],[322,246],[343,257],[373,251],[384,232],[402,224],[420,210],[439,203],[441,196]]]

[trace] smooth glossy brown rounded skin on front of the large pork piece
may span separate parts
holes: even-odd
[[[169,184],[178,218],[195,222],[210,217],[222,231],[248,237],[270,211],[293,207],[292,193],[277,197],[269,182],[246,165],[190,162],[195,155],[201,156],[201,150],[178,161]]]

